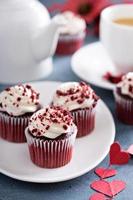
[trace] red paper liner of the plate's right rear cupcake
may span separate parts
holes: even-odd
[[[71,112],[77,126],[77,137],[90,134],[95,127],[95,108],[79,109]]]

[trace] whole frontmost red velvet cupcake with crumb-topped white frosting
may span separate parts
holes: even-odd
[[[36,112],[25,130],[32,162],[42,168],[57,168],[72,158],[77,127],[71,114],[60,107]]]

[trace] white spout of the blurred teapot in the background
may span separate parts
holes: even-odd
[[[32,50],[36,60],[43,60],[52,56],[56,50],[61,27],[66,24],[64,18],[53,19],[47,26],[40,28],[32,37]]]

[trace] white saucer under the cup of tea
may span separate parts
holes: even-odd
[[[114,65],[100,42],[89,44],[78,50],[71,60],[74,73],[81,79],[109,90],[114,84],[103,79],[106,72],[115,73]]]

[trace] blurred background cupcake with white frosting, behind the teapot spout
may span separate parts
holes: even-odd
[[[84,43],[86,23],[80,16],[70,11],[58,14],[56,17],[65,18],[66,24],[61,29],[56,53],[60,55],[72,54]]]

